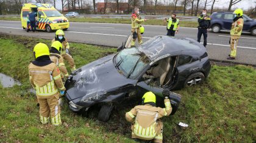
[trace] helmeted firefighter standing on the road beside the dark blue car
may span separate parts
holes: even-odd
[[[230,30],[230,55],[227,58],[228,60],[235,60],[236,57],[236,46],[238,44],[238,40],[241,37],[241,33],[244,26],[244,19],[243,19],[243,10],[236,9],[233,14],[236,17],[233,19],[233,23]]]

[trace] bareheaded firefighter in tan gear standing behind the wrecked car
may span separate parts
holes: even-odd
[[[132,43],[131,43],[132,47],[135,46],[135,41],[137,38],[138,38],[139,44],[143,43],[140,27],[141,27],[141,23],[144,21],[146,21],[146,19],[141,19],[139,9],[134,9],[134,13],[132,13]],[[144,29],[143,29],[143,32],[144,32]]]

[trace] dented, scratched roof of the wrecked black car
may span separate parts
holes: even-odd
[[[201,46],[190,38],[156,36],[138,47],[151,60],[162,55],[179,55],[182,51],[199,51]]]

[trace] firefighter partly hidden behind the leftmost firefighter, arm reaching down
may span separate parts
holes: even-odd
[[[64,59],[60,52],[62,52],[62,43],[59,41],[54,41],[50,49],[51,61],[53,61],[60,68],[61,77],[68,78],[68,71],[66,70]],[[63,80],[63,82],[65,81]]]

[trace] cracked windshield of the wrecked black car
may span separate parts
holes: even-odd
[[[126,77],[135,78],[149,63],[148,57],[137,48],[124,49],[115,57],[116,68]]]

